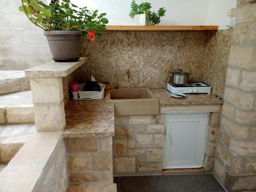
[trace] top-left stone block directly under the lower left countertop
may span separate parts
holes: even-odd
[[[67,138],[69,153],[97,152],[97,139]]]

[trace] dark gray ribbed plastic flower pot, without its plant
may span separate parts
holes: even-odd
[[[56,62],[72,62],[79,59],[80,31],[45,31],[52,59]]]

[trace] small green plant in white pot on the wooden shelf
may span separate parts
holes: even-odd
[[[159,8],[157,13],[151,11],[151,3],[144,2],[141,4],[136,4],[135,0],[132,1],[130,17],[134,18],[135,25],[158,25],[161,21],[161,17],[164,16],[166,9],[164,7]]]

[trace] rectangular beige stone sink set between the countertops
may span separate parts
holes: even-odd
[[[114,102],[116,116],[159,114],[159,100],[148,88],[106,90],[105,102]]]

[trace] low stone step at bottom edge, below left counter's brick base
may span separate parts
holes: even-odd
[[[117,186],[115,183],[108,184],[88,184],[88,185],[70,185],[67,192],[116,192]]]

